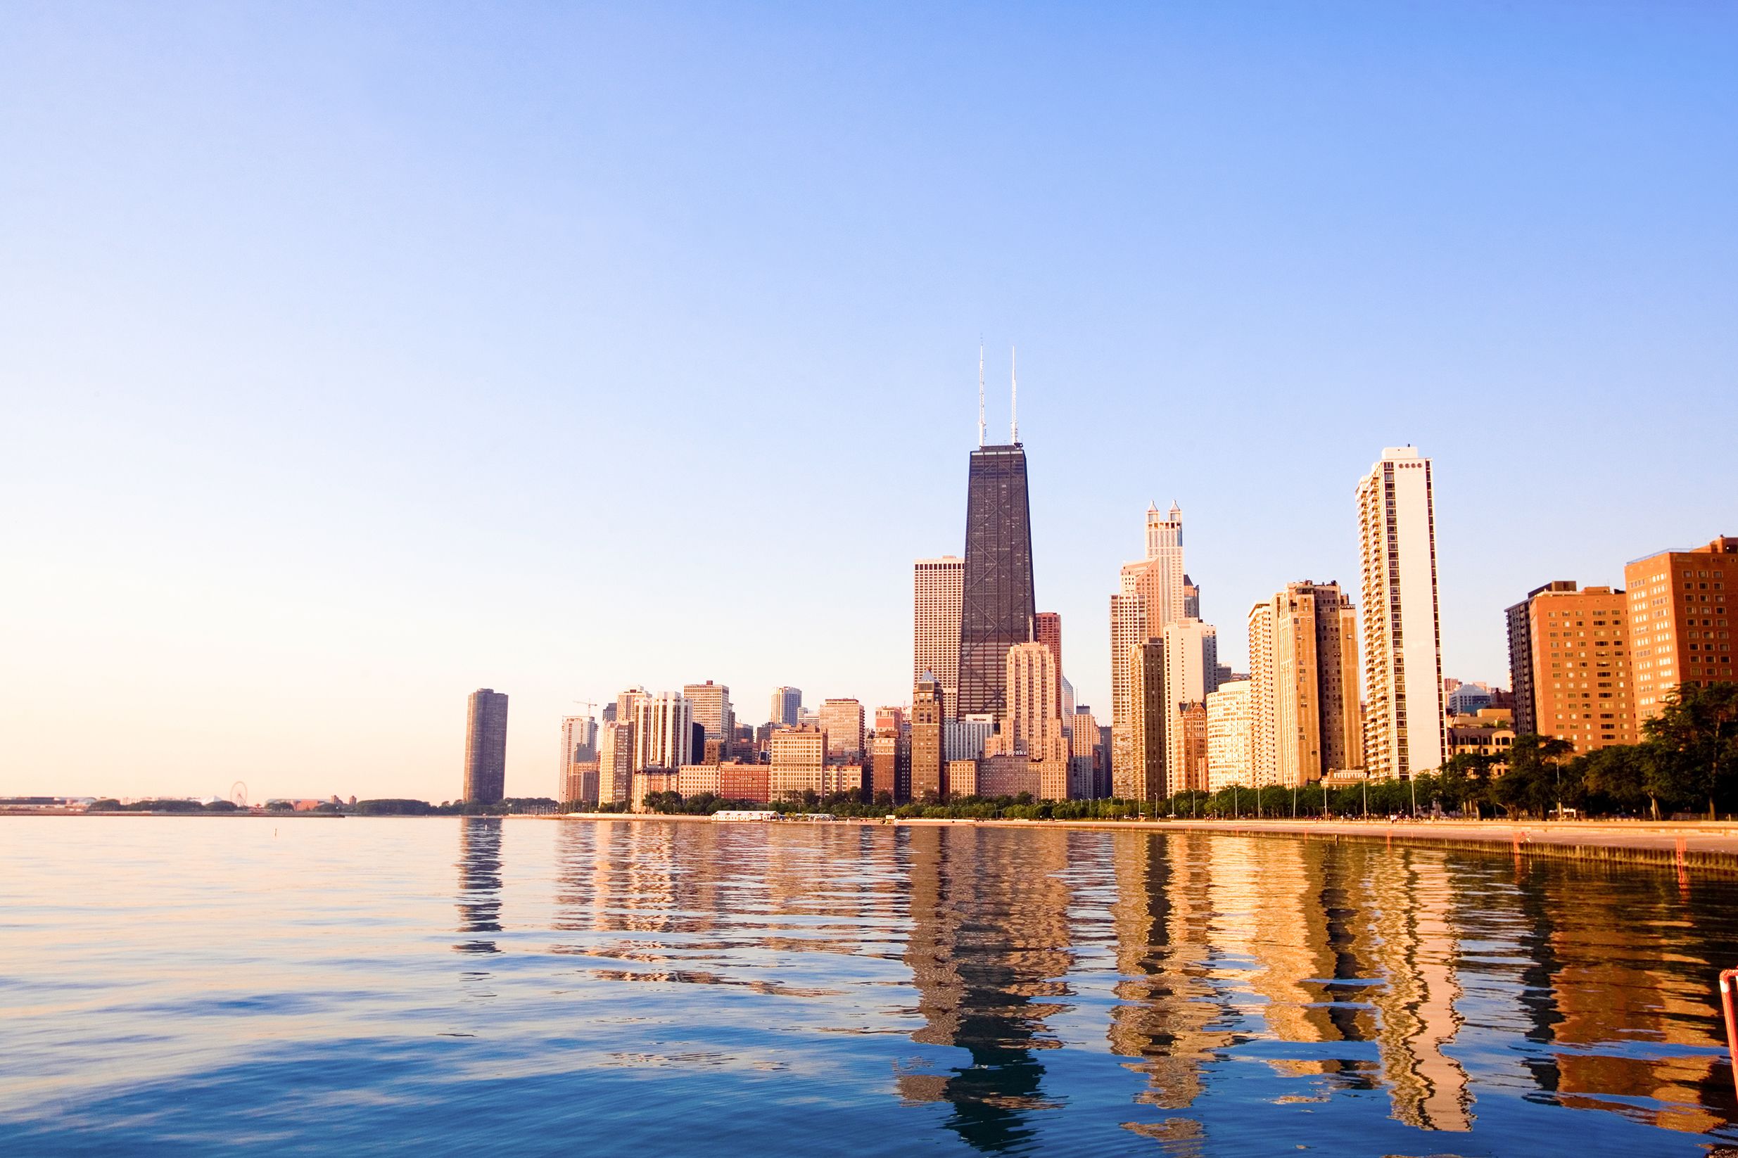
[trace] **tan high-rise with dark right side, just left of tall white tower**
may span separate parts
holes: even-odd
[[[1251,756],[1270,758],[1262,784],[1307,784],[1364,763],[1357,708],[1357,614],[1337,582],[1290,582],[1250,612]],[[1262,729],[1262,732],[1255,732]],[[1255,760],[1251,758],[1251,769]],[[1262,772],[1258,769],[1257,772]]]

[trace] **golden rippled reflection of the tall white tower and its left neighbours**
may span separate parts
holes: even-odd
[[[1114,859],[1123,1003],[1109,1040],[1147,1080],[1138,1102],[1194,1106],[1208,1062],[1258,1015],[1267,1036],[1314,1047],[1270,1057],[1279,1075],[1321,1075],[1330,1088],[1380,1080],[1401,1121],[1472,1127],[1467,1073],[1446,1052],[1462,993],[1439,855],[1178,833],[1121,836]],[[1168,1141],[1192,1127],[1130,1125]]]

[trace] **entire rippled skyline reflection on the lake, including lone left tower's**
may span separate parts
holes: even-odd
[[[1067,1102],[1046,1057],[1093,1048],[1058,1026],[1097,989],[1098,1048],[1135,1076],[1124,1128],[1178,1153],[1206,1141],[1191,1111],[1215,1066],[1251,1043],[1274,1104],[1373,1092],[1416,1130],[1476,1130],[1481,1095],[1693,1134],[1731,1111],[1696,890],[1648,869],[980,826],[563,822],[554,855],[553,930],[589,937],[554,949],[596,981],[860,998],[786,974],[815,953],[900,963],[912,1002],[890,988],[876,1008],[965,1061],[895,1061],[892,1092],[945,1106],[977,1149]],[[501,880],[501,822],[469,821],[457,949],[495,951]]]

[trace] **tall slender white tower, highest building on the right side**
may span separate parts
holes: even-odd
[[[1373,779],[1443,767],[1443,636],[1430,459],[1389,447],[1357,480],[1364,595],[1364,749]]]

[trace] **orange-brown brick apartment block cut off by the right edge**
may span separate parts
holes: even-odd
[[[1738,539],[1721,536],[1693,551],[1658,551],[1623,567],[1629,586],[1630,685],[1635,716],[1660,713],[1681,683],[1728,683],[1733,675],[1726,584],[1738,577]]]

